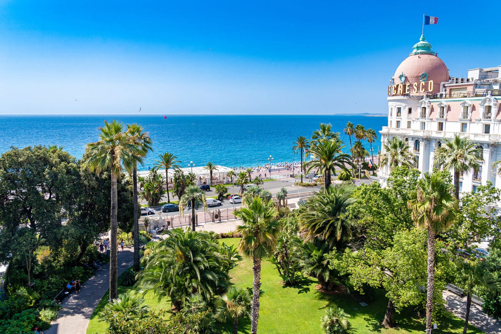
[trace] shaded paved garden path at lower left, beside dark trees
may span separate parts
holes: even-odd
[[[132,265],[133,247],[118,252],[118,274]],[[45,334],[85,334],[94,309],[110,287],[109,264],[96,271],[83,285],[80,294],[65,298],[58,317]]]

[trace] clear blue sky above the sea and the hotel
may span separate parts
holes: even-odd
[[[0,113],[385,113],[423,12],[451,76],[501,63],[471,2],[166,3],[0,1]]]

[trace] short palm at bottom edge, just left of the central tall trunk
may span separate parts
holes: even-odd
[[[233,320],[233,334],[238,333],[238,320],[250,316],[252,296],[249,290],[230,286],[225,294],[216,299],[214,317],[221,322]]]

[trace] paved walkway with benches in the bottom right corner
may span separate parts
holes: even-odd
[[[466,313],[466,297],[460,297],[447,290],[442,292],[442,296],[447,302],[445,308],[464,320],[464,315]],[[469,323],[487,334],[501,333],[501,321],[485,314],[482,308],[474,303],[471,303]]]

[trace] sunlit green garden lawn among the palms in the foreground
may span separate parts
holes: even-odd
[[[220,239],[226,244],[237,244],[238,238]],[[230,271],[231,281],[240,287],[252,287],[252,261],[244,258]],[[262,264],[261,297],[259,332],[266,334],[309,333],[322,334],[320,317],[325,314],[325,308],[332,303],[343,308],[352,317],[350,319],[356,333],[383,334],[396,333],[423,333],[421,319],[413,316],[411,310],[397,314],[395,320],[397,328],[386,329],[380,323],[383,319],[388,300],[383,291],[378,292],[378,298],[368,306],[362,307],[349,295],[325,295],[315,289],[316,279],[305,278],[301,284],[286,287],[282,284],[277,269],[268,261]],[[119,293],[131,287],[119,286]],[[94,312],[87,334],[105,333],[106,323],[98,321],[96,312],[100,311],[108,300],[108,294],[100,301]],[[153,309],[170,309],[170,301],[163,299],[158,302],[152,293],[146,293],[145,300]],[[354,308],[358,308],[354,310]],[[438,323],[434,333],[461,333],[464,321],[452,316]],[[246,319],[239,324],[239,333],[250,333],[250,320]],[[403,329],[405,328],[405,329]],[[222,326],[224,333],[232,332],[232,323]],[[473,326],[469,326],[468,333],[482,333]]]

